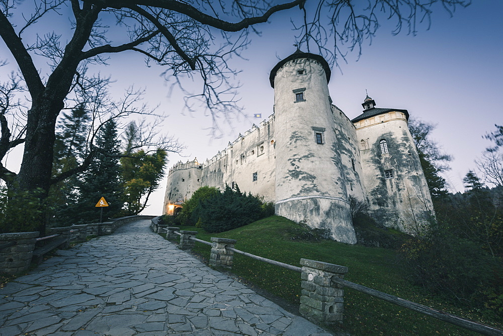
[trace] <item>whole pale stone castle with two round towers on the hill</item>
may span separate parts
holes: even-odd
[[[275,213],[333,239],[356,243],[350,198],[366,202],[372,217],[413,232],[433,211],[406,110],[376,108],[366,97],[350,120],[328,93],[326,60],[297,49],[269,76],[273,114],[211,159],[178,162],[169,171],[164,213],[176,214],[202,186],[225,184],[275,202]]]

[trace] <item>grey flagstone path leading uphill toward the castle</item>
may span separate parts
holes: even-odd
[[[138,220],[0,289],[0,334],[310,335],[325,332]]]

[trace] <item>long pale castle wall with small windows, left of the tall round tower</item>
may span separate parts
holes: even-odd
[[[227,148],[203,163],[178,162],[167,177],[163,213],[178,205],[202,186],[224,190],[225,184],[237,183],[242,192],[276,200],[275,193],[274,116],[240,135]],[[257,173],[254,180],[254,173]],[[173,206],[172,206],[173,208]]]

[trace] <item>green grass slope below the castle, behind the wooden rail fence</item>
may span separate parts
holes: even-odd
[[[309,234],[307,228],[278,216],[221,233],[210,234],[194,226],[182,226],[181,229],[198,231],[197,238],[206,241],[212,236],[236,239],[237,249],[290,265],[300,266],[300,259],[306,258],[347,266],[346,280],[497,328],[503,327],[499,322],[486,320],[478,311],[456,307],[452,302],[428,295],[422,288],[411,285],[400,273],[396,252],[391,249],[318,239],[316,234]],[[196,242],[194,252],[208,260],[210,246]],[[234,255],[232,273],[275,296],[294,304],[299,302],[299,273],[241,255]],[[344,300],[344,325],[336,331],[386,335],[474,334],[355,290],[345,289]]]

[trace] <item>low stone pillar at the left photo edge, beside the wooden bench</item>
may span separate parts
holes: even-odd
[[[16,241],[14,246],[0,249],[0,272],[17,274],[26,271],[31,264],[36,238],[40,232],[0,234],[0,245]]]

